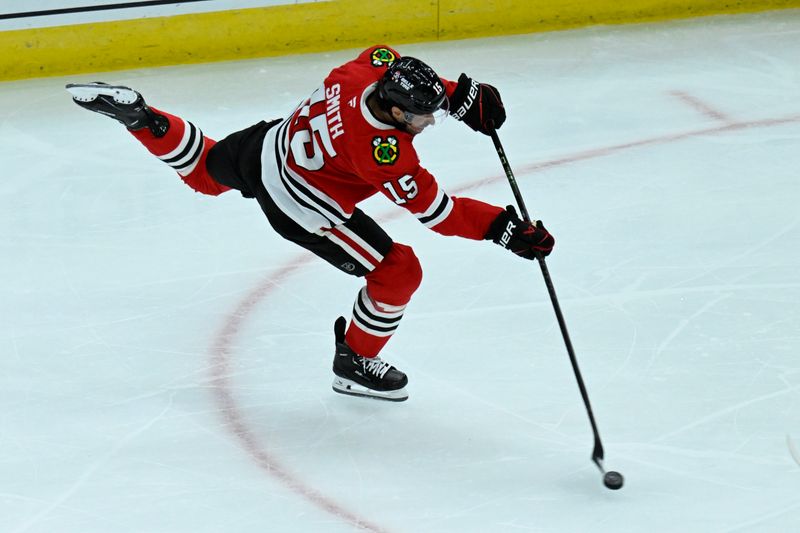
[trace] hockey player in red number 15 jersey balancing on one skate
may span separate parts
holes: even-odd
[[[420,166],[413,140],[448,113],[489,134],[505,121],[497,89],[374,46],[333,69],[284,119],[259,122],[220,142],[189,121],[148,106],[128,88],[70,84],[75,103],[122,124],[184,182],[209,195],[255,198],[275,231],[343,272],[363,277],[349,326],[334,324],[336,392],[402,401],[406,375],[379,352],[397,330],[422,279],[413,250],[392,241],[356,205],[380,192],[443,235],[491,240],[527,259],[547,255],[541,222],[449,196]],[[346,327],[347,326],[347,327]]]

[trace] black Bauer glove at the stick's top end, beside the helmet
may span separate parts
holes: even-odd
[[[484,135],[490,135],[493,127],[499,129],[506,121],[506,109],[497,89],[466,74],[459,76],[450,97],[450,114]]]

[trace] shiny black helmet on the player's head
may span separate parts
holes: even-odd
[[[444,84],[434,70],[411,56],[394,61],[378,82],[378,95],[386,107],[395,105],[417,115],[446,109]]]

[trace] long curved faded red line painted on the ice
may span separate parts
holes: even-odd
[[[777,119],[766,119],[749,122],[736,122],[728,123],[722,126],[713,128],[706,128],[700,130],[692,130],[683,133],[675,133],[670,135],[662,135],[659,137],[652,137],[649,139],[640,139],[638,141],[631,141],[627,143],[615,144],[606,147],[596,148],[593,150],[586,150],[572,155],[564,156],[550,161],[541,163],[532,163],[518,167],[518,173],[530,174],[540,170],[566,165],[569,163],[576,163],[595,157],[602,157],[611,155],[615,152],[627,150],[630,148],[638,148],[642,146],[650,146],[655,144],[665,144],[669,142],[680,141],[689,137],[696,137],[700,135],[713,135],[725,133],[729,131],[744,130],[750,128],[779,126],[782,124],[789,124],[792,122],[800,122],[800,115],[789,116]],[[489,178],[480,179],[470,183],[466,183],[460,187],[454,188],[452,192],[462,193],[471,189],[476,189],[484,185],[494,184],[497,181],[505,179],[505,175],[498,175]],[[390,220],[403,215],[403,211],[395,210],[391,215],[382,217],[382,220]],[[295,257],[289,263],[281,267],[277,272],[271,273],[265,278],[258,286],[253,288],[244,299],[239,302],[239,305],[232,313],[228,315],[222,328],[214,337],[213,343],[210,348],[211,356],[211,381],[214,390],[216,403],[222,413],[225,426],[230,431],[231,435],[236,438],[242,448],[247,452],[251,459],[267,474],[273,476],[280,481],[287,489],[291,490],[298,496],[305,499],[308,503],[317,507],[320,510],[326,511],[331,515],[348,522],[356,527],[367,531],[383,532],[386,531],[381,526],[370,522],[367,519],[361,518],[354,512],[345,509],[336,501],[321,494],[318,490],[303,482],[299,477],[285,467],[273,454],[268,452],[264,446],[258,441],[255,433],[248,427],[247,422],[241,413],[236,399],[233,396],[231,387],[231,372],[230,365],[233,357],[233,342],[239,333],[242,325],[248,316],[252,313],[253,309],[264,298],[266,298],[272,290],[292,277],[297,271],[303,268],[306,264],[316,261],[316,258],[310,254],[302,254]]]

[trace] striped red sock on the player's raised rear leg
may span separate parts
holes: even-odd
[[[156,137],[148,128],[143,128],[132,131],[133,136],[151,154],[171,166],[184,183],[195,191],[218,196],[231,190],[230,187],[217,183],[206,170],[208,151],[216,141],[204,137],[203,132],[191,122],[153,107],[151,109],[169,120],[166,135]]]

